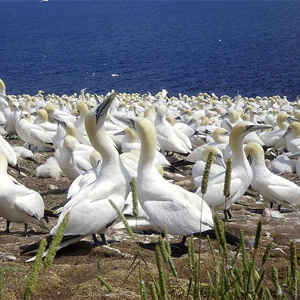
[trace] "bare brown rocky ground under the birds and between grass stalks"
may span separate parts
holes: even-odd
[[[11,144],[21,144],[19,140],[11,140]],[[38,164],[43,163],[53,153],[36,153],[35,159]],[[16,171],[9,170],[21,183],[41,193],[45,206],[51,209],[55,205],[66,200],[66,190],[70,184],[65,177],[55,180],[52,178],[37,178],[35,169],[37,165],[33,161],[19,160],[19,165],[27,170],[26,177],[20,176]],[[193,190],[191,182],[191,168],[183,170],[184,178],[171,176],[175,182],[189,190]],[[297,181],[297,176],[290,175],[289,178]],[[272,249],[266,264],[267,272],[265,284],[274,293],[271,284],[270,266],[276,265],[279,271],[280,283],[286,274],[289,263],[290,241],[295,240],[298,253],[300,253],[300,213],[297,209],[283,208],[282,213],[271,213],[269,204],[261,201],[259,195],[249,190],[247,195],[232,207],[234,216],[247,216],[245,221],[227,222],[225,228],[233,235],[239,236],[243,230],[249,244],[253,242],[258,221],[262,220],[262,238],[258,249],[258,257],[265,251],[266,245],[272,241]],[[262,213],[263,212],[263,213]],[[219,214],[222,217],[222,214]],[[55,218],[50,218],[49,228],[56,224]],[[22,299],[32,263],[25,261],[30,256],[20,256],[20,247],[41,240],[46,232],[37,226],[29,226],[29,236],[24,237],[22,224],[11,224],[11,234],[4,232],[6,221],[0,218],[0,267],[3,270],[3,299]],[[57,253],[54,265],[43,271],[41,269],[38,277],[33,299],[140,299],[139,267],[135,267],[134,260],[137,254],[136,244],[131,240],[125,230],[109,229],[107,233],[110,246],[95,246],[91,237],[87,237],[77,244],[66,247]],[[148,286],[150,273],[157,278],[157,266],[155,262],[155,245],[158,236],[138,235],[136,239],[140,242],[141,252],[147,262],[141,262],[141,273],[143,280]],[[189,239],[189,238],[188,238]],[[179,242],[180,237],[170,237],[171,243]],[[217,249],[215,240],[213,246]],[[186,243],[187,245],[187,243]],[[198,249],[198,239],[195,239],[195,249]],[[235,246],[228,245],[230,253],[235,253]],[[188,249],[172,248],[180,286],[187,290],[190,270],[188,267]],[[198,251],[198,250],[197,250]],[[251,246],[248,249],[252,252]],[[298,254],[299,261],[299,254]],[[109,292],[97,278],[97,262],[102,268],[103,277],[113,287],[114,292]],[[201,282],[207,281],[207,272],[212,272],[214,262],[205,238],[201,240]],[[174,285],[171,272],[168,273],[170,285]],[[171,291],[173,299],[185,299],[180,289]],[[0,297],[1,298],[1,297]]]

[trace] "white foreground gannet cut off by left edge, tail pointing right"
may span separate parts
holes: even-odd
[[[39,193],[28,189],[7,174],[7,160],[0,152],[0,216],[7,220],[6,232],[10,222],[24,223],[27,234],[28,223],[37,224],[48,230],[41,220],[44,216],[44,201]]]

